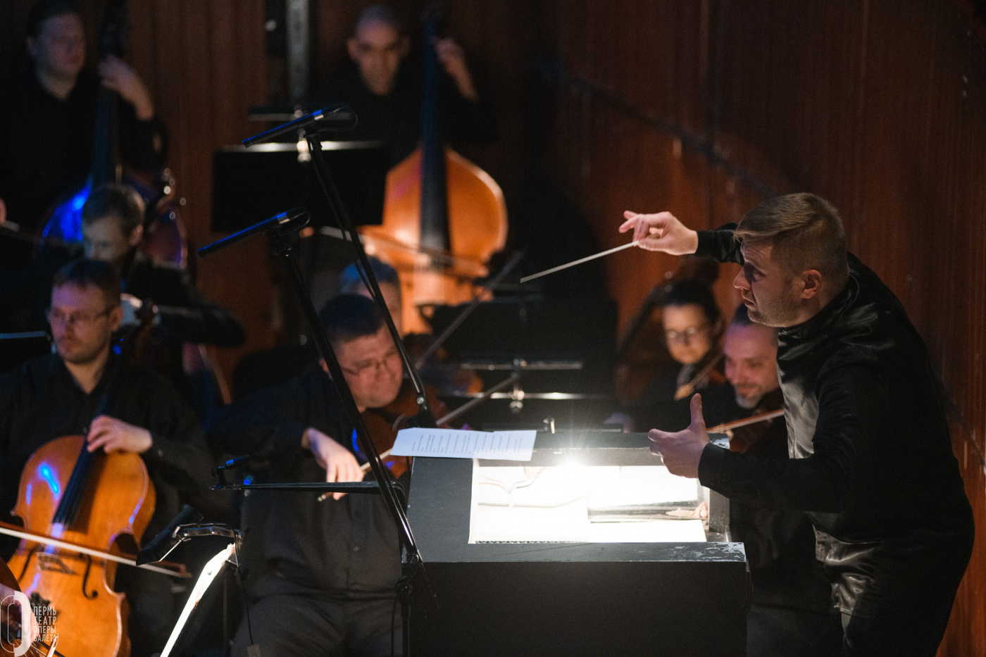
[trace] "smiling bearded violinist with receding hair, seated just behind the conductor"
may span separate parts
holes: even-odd
[[[749,320],[740,305],[723,339],[726,376],[743,412],[731,419],[779,409],[777,330]],[[703,404],[708,401],[703,398]],[[783,419],[733,430],[730,449],[758,459],[788,458]],[[804,511],[730,503],[732,540],[743,544],[753,587],[746,617],[747,657],[829,657],[828,580],[814,558],[814,533]]]

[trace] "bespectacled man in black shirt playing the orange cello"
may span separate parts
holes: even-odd
[[[0,375],[0,504],[14,507],[21,471],[37,448],[83,434],[90,451],[141,455],[157,492],[147,529],[153,536],[181,501],[208,488],[211,457],[195,414],[175,389],[112,353],[111,336],[123,319],[119,289],[112,267],[98,260],[74,260],[55,275],[47,315],[56,353]],[[106,412],[93,417],[105,394]],[[177,611],[171,586],[166,575],[117,570],[116,590],[131,610],[133,657],[164,647]]]

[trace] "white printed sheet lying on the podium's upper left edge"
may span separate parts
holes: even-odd
[[[401,429],[390,454],[530,461],[534,431],[462,431],[459,429]]]

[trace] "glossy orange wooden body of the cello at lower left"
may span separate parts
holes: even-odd
[[[91,455],[88,476],[72,485],[83,436],[45,443],[21,474],[13,514],[35,533],[119,552],[115,543],[139,541],[154,513],[156,493],[137,454]],[[79,495],[78,513],[63,526],[53,522],[63,497]],[[59,652],[73,657],[127,657],[126,607],[113,591],[115,564],[71,550],[22,541],[8,561],[33,606],[54,619]]]

